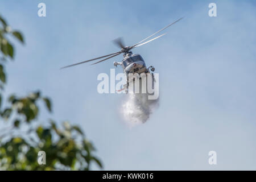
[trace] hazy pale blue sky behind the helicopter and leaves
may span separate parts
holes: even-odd
[[[40,2],[46,18],[37,15]],[[42,90],[53,113],[43,111],[38,122],[80,125],[104,169],[256,169],[254,1],[11,0],[0,2],[0,12],[26,40],[6,67],[6,94]],[[97,93],[97,75],[110,74],[121,55],[59,70],[118,51],[119,36],[130,46],[182,16],[163,38],[133,51],[159,73],[160,105],[143,125],[123,123],[123,95]],[[211,150],[216,166],[208,164]]]

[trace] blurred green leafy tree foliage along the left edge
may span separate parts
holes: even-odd
[[[0,129],[0,169],[4,170],[89,170],[92,162],[102,167],[94,156],[95,148],[86,139],[79,126],[63,122],[62,127],[50,120],[44,125],[33,125],[38,120],[39,102],[49,112],[51,100],[34,92],[26,97],[15,94],[2,104],[3,85],[6,84],[4,64],[14,59],[14,47],[7,37],[13,36],[24,43],[19,31],[12,31],[0,16],[0,122],[7,121],[9,127]],[[2,107],[5,106],[5,107]],[[46,164],[38,164],[38,152],[46,152]]]

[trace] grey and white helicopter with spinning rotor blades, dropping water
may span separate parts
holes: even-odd
[[[160,29],[159,31],[155,32],[154,34],[148,36],[147,38],[141,40],[141,42],[138,42],[136,44],[134,44],[133,46],[124,46],[123,44],[123,40],[121,38],[117,38],[114,40],[114,43],[117,44],[117,46],[119,48],[121,48],[121,51],[118,51],[118,52],[114,52],[114,53],[110,53],[109,55],[105,55],[105,56],[100,56],[100,57],[96,57],[94,59],[90,59],[90,60],[86,60],[86,61],[81,61],[79,63],[75,63],[75,64],[71,64],[71,65],[67,65],[65,67],[62,67],[60,69],[63,69],[63,68],[69,68],[69,67],[73,67],[75,65],[79,65],[79,64],[83,64],[83,63],[87,63],[89,61],[94,61],[94,60],[97,60],[97,59],[101,59],[101,58],[104,58],[106,57],[105,59],[102,59],[100,61],[97,61],[96,63],[93,63],[91,65],[94,65],[94,64],[98,64],[98,63],[101,63],[102,61],[105,61],[105,60],[108,60],[112,57],[115,57],[115,56],[118,56],[120,55],[121,53],[123,53],[123,59],[121,62],[116,62],[114,61],[114,66],[117,67],[117,65],[121,65],[122,66],[122,69],[123,69],[123,73],[126,74],[126,77],[127,77],[127,84],[126,85],[123,85],[123,89],[125,89],[125,86],[128,87],[129,85],[129,74],[132,74],[134,75],[135,73],[137,73],[138,75],[141,75],[141,73],[150,73],[151,72],[154,72],[155,71],[155,68],[151,65],[150,67],[146,67],[146,64],[142,58],[141,55],[139,54],[133,54],[133,52],[131,52],[131,49],[135,48],[135,47],[139,47],[139,46],[142,46],[144,44],[147,44],[149,42],[151,42],[152,40],[155,40],[155,39],[158,39],[160,38],[161,36],[163,35],[166,35],[166,33],[162,34],[162,35],[159,35],[159,36],[156,36],[155,38],[152,38],[150,40],[147,40],[149,38],[151,38],[152,36],[158,34],[160,31],[163,31],[165,30],[166,28],[172,26],[172,24],[175,24],[176,22],[179,22],[179,20],[181,20],[183,18],[179,18],[177,19],[175,22],[171,23],[171,24],[168,24],[168,26]],[[146,41],[147,40],[147,41]],[[146,42],[144,42],[146,41]],[[121,89],[121,90],[123,90]],[[121,91],[121,90],[117,90],[117,91]]]

